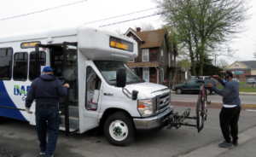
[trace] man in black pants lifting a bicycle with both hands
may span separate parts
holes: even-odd
[[[220,128],[223,133],[225,141],[219,143],[218,146],[222,148],[232,147],[232,143],[237,146],[238,135],[238,119],[241,112],[241,100],[239,98],[238,83],[233,81],[233,74],[230,71],[224,73],[225,79],[228,81],[224,84],[223,90],[218,90],[212,84],[207,84],[219,96],[223,96],[224,106],[219,113]],[[232,142],[230,138],[232,137]]]

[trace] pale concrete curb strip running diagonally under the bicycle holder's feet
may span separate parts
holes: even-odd
[[[238,134],[239,140],[238,143],[242,144],[244,142],[247,142],[250,139],[253,139],[256,137],[256,126],[253,128],[250,128],[246,131],[242,131]],[[230,148],[219,148],[218,143],[223,142],[224,139],[219,140],[218,142],[211,142],[207,146],[203,146],[201,148],[196,148],[195,150],[192,150],[188,154],[182,154],[178,157],[198,157],[198,156],[205,156],[205,157],[213,157],[217,156],[218,154],[223,154],[224,152],[230,150]],[[235,146],[232,146],[232,148],[236,148]]]

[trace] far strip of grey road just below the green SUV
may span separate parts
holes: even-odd
[[[180,94],[171,93],[172,101],[197,102],[198,93]],[[241,104],[256,104],[255,96],[240,95]],[[222,96],[212,93],[207,97],[208,101],[222,103]]]

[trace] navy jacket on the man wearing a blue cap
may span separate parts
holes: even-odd
[[[36,106],[58,106],[59,96],[67,96],[67,87],[64,87],[59,79],[52,74],[42,74],[33,80],[26,95],[26,108],[30,108],[34,99]]]

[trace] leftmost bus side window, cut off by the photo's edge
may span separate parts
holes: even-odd
[[[10,80],[13,62],[13,49],[0,49],[0,80]]]

